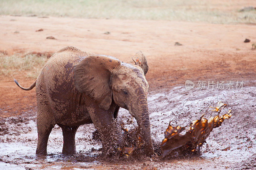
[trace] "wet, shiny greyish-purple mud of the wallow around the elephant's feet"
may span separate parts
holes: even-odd
[[[172,125],[186,126],[200,118],[208,106],[218,101],[227,103],[232,109],[231,119],[221,127],[213,129],[199,155],[188,155],[171,160],[118,160],[106,162],[99,159],[100,141],[92,139],[93,125],[79,127],[76,134],[77,155],[61,155],[62,132],[55,126],[49,137],[48,156],[36,157],[36,113],[28,112],[22,117],[0,121],[0,169],[242,169],[256,167],[256,88],[244,87],[238,90],[194,90],[175,87],[168,93],[149,93],[148,107],[152,138],[155,143],[164,139],[164,130],[169,121]],[[223,113],[226,113],[223,111]],[[208,115],[205,115],[206,118]],[[124,109],[119,119],[130,122]],[[136,126],[127,123],[125,128]],[[255,167],[254,167],[255,166]]]

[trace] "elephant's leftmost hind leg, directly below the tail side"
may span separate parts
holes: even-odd
[[[53,127],[54,125],[38,126],[37,124],[38,141],[37,141],[36,154],[47,155],[48,138]]]

